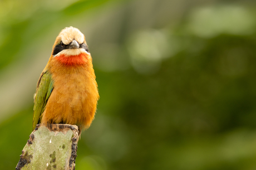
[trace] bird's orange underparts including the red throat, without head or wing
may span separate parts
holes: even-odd
[[[53,91],[42,115],[42,123],[68,123],[87,128],[94,118],[99,93],[91,56],[52,57],[49,68]]]

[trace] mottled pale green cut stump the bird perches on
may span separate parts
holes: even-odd
[[[37,125],[17,164],[19,169],[75,169],[78,142],[76,125]]]

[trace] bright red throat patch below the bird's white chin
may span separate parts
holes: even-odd
[[[60,61],[62,64],[66,65],[82,65],[87,63],[88,60],[88,54],[81,53],[78,55],[70,55],[66,56],[64,54],[55,56],[55,58]]]

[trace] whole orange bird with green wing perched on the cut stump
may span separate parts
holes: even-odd
[[[77,125],[79,133],[94,119],[99,92],[85,35],[66,27],[53,45],[37,82],[33,130],[38,123]]]

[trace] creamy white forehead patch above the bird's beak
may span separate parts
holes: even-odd
[[[74,27],[66,27],[62,29],[60,37],[64,44],[70,44],[73,40],[76,40],[81,44],[85,40],[80,30]]]

